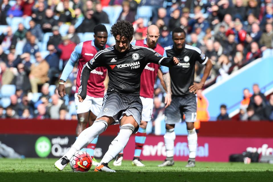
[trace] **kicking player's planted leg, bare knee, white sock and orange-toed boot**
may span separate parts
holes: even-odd
[[[108,163],[126,146],[130,136],[138,126],[137,122],[132,116],[123,116],[121,119],[121,127],[118,136],[109,145],[108,151],[105,153],[100,161],[100,165],[95,167],[95,172],[116,172],[108,167]]]

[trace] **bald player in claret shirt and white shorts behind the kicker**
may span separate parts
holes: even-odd
[[[136,46],[152,48],[153,50],[158,52],[160,55],[165,56],[164,48],[161,47],[159,44],[157,44],[159,35],[160,34],[159,34],[158,27],[155,25],[150,25],[147,29],[147,39],[135,41],[132,44]],[[169,106],[171,102],[171,84],[169,84],[171,82],[170,81],[171,78],[169,74],[169,68],[166,66],[160,66],[154,63],[147,64],[140,77],[140,99],[143,105],[142,114],[141,114],[142,120],[140,122],[139,129],[135,137],[136,147],[135,147],[134,158],[132,161],[132,165],[136,165],[139,167],[145,166],[140,161],[139,156],[141,154],[142,147],[146,139],[147,122],[151,121],[151,116],[153,112],[154,84],[155,84],[157,72],[160,72],[159,68],[163,73],[163,76],[162,76],[163,81],[165,83],[165,86],[167,87],[166,88],[167,94],[165,96],[166,107]],[[123,151],[116,157],[116,160],[114,161],[113,165],[120,166],[122,164],[122,159],[123,159]]]

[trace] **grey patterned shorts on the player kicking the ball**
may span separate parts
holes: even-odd
[[[114,118],[113,124],[119,124],[124,114],[133,116],[138,126],[141,122],[142,102],[139,96],[120,95],[114,92],[106,93],[103,98],[102,109],[97,118],[109,116]],[[138,128],[135,128],[136,133]]]

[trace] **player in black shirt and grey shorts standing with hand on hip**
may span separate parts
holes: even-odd
[[[194,167],[197,147],[197,134],[194,128],[194,122],[196,120],[195,93],[204,86],[212,68],[212,62],[199,48],[185,44],[186,33],[183,29],[175,28],[172,36],[174,45],[166,47],[165,50],[167,56],[176,56],[180,62],[176,66],[169,68],[171,75],[172,102],[165,110],[166,133],[164,135],[164,141],[166,146],[166,159],[158,166],[174,165],[174,129],[175,124],[183,119],[184,114],[188,130],[188,147],[190,151],[186,167]],[[206,65],[200,83],[194,83],[194,68],[196,61]]]

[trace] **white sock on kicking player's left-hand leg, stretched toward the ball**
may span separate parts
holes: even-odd
[[[63,156],[67,156],[67,159],[70,159],[76,151],[79,151],[82,148],[86,147],[95,137],[104,132],[106,128],[107,128],[106,121],[104,120],[95,121],[92,126],[86,128],[79,134],[75,143],[72,145],[69,151]]]

